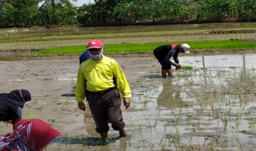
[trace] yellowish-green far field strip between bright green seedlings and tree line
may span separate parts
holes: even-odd
[[[0,51],[31,51],[85,45],[91,39],[101,39],[104,44],[138,44],[216,39],[255,41],[255,35],[255,22],[50,29],[9,28],[0,29]]]

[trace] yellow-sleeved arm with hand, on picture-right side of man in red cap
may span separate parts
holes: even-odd
[[[130,91],[130,86],[127,82],[126,75],[124,75],[121,67],[116,61],[113,62],[112,66],[113,75],[116,78],[117,88],[122,94],[124,106],[128,108],[130,106],[130,97],[132,96],[132,92]]]

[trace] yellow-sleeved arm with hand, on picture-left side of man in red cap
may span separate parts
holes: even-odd
[[[79,66],[78,76],[77,76],[77,86],[75,86],[75,100],[78,102],[79,109],[85,111],[84,98],[85,98],[85,79],[82,71],[82,66]]]

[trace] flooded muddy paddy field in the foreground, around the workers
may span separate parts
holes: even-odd
[[[1,92],[28,89],[23,117],[61,131],[46,150],[254,150],[256,53],[180,56],[174,78],[162,79],[155,57],[116,57],[132,90],[122,107],[127,138],[109,131],[104,146],[89,107],[79,111],[74,86],[78,56],[0,61]],[[0,123],[0,136],[12,125]]]

